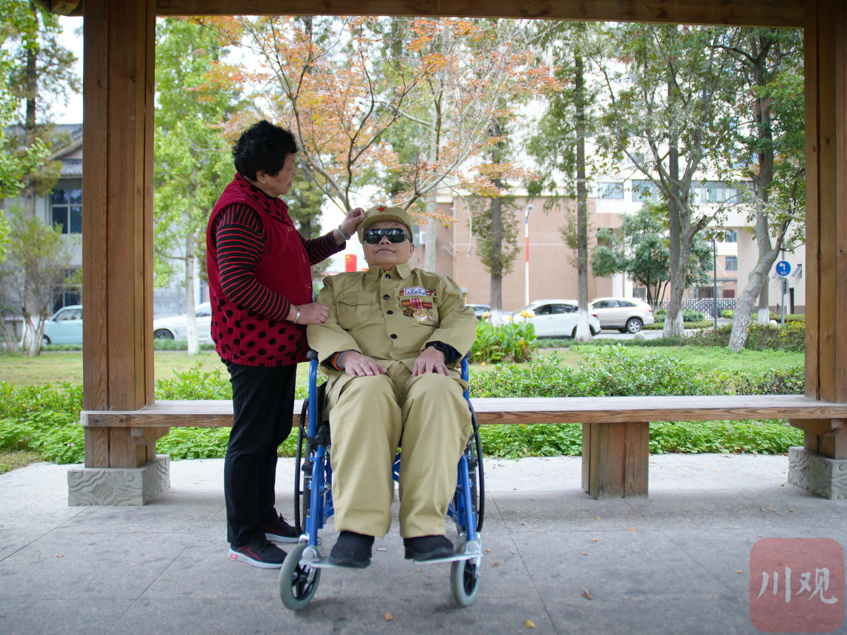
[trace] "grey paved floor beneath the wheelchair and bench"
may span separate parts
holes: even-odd
[[[324,572],[296,615],[276,572],[227,558],[223,461],[172,463],[145,507],[68,507],[67,466],[32,465],[0,476],[0,633],[756,633],[756,540],[847,544],[847,505],[786,483],[786,456],[650,461],[650,500],[616,501],[579,489],[579,458],[486,461],[472,607],[453,605],[449,566],[403,560],[394,527],[372,566]],[[279,472],[291,516],[292,461]]]

